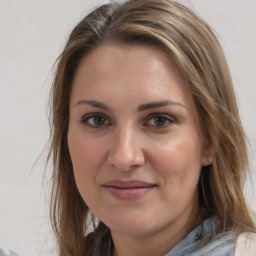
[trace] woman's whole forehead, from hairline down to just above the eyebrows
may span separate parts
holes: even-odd
[[[116,85],[116,86],[114,86]],[[104,45],[85,56],[75,74],[73,87],[87,90],[108,88],[189,94],[182,78],[166,55],[145,46]],[[176,89],[176,90],[174,90]],[[73,90],[74,91],[74,90]],[[172,91],[172,92],[171,92]]]

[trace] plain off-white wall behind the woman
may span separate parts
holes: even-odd
[[[56,255],[47,179],[42,183],[45,155],[36,162],[49,135],[52,65],[72,27],[103,2],[108,1],[0,0],[0,244],[23,256]],[[251,144],[251,180],[256,184],[256,1],[180,2],[214,28],[224,48]],[[256,209],[250,184],[245,194]]]

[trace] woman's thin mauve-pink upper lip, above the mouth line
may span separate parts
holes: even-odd
[[[103,184],[104,187],[116,188],[147,188],[156,186],[154,183],[149,183],[141,180],[110,180]]]

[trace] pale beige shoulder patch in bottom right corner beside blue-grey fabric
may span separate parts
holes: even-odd
[[[256,234],[242,233],[237,238],[236,256],[253,256],[256,254]]]

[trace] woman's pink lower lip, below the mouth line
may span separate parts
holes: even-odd
[[[153,190],[155,186],[141,188],[118,188],[104,186],[104,188],[110,195],[117,199],[134,200],[145,196],[149,191]]]

